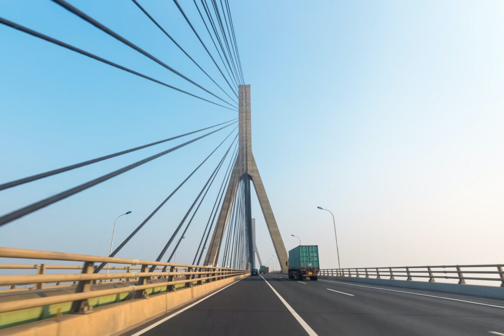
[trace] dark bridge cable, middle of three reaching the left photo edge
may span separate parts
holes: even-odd
[[[87,161],[83,161],[83,162],[80,162],[80,163],[75,163],[75,164],[68,165],[66,167],[58,168],[58,169],[55,169],[55,170],[52,170],[52,171],[48,171],[48,172],[45,172],[45,173],[40,173],[40,174],[32,175],[32,176],[29,176],[29,177],[25,177],[25,178],[22,178],[22,179],[19,179],[19,180],[15,180],[15,181],[7,182],[7,183],[4,183],[4,184],[0,184],[0,190],[16,187],[16,186],[19,186],[19,185],[22,185],[22,184],[25,184],[25,183],[28,183],[28,182],[40,180],[40,179],[43,179],[43,178],[46,178],[46,177],[49,177],[49,176],[52,176],[52,175],[68,172],[68,171],[71,171],[73,169],[77,169],[77,168],[83,167],[83,166],[88,165],[88,164],[100,162],[100,161],[103,161],[103,160],[106,160],[106,159],[109,159],[109,158],[112,158],[112,157],[115,157],[115,156],[131,153],[131,152],[134,152],[134,151],[137,151],[137,150],[140,150],[140,149],[144,149],[144,148],[147,148],[147,147],[150,147],[150,146],[158,145],[160,143],[168,142],[168,141],[171,141],[171,140],[174,140],[174,139],[178,139],[178,138],[181,138],[181,137],[184,137],[184,136],[187,136],[187,135],[191,135],[191,134],[198,133],[198,132],[201,132],[201,131],[204,131],[204,130],[208,130],[210,128],[214,128],[214,127],[217,127],[217,126],[224,125],[226,123],[235,121],[236,119],[228,120],[227,122],[224,122],[224,123],[220,123],[220,124],[213,125],[213,126],[210,126],[210,127],[205,127],[205,128],[199,129],[197,131],[193,131],[193,132],[177,135],[177,136],[174,136],[174,137],[171,137],[171,138],[168,138],[168,139],[159,140],[159,141],[156,141],[156,142],[151,142],[151,143],[146,144],[146,145],[142,145],[142,146],[138,146],[138,147],[122,150],[120,152],[116,152],[116,153],[112,153],[112,154],[108,154],[108,155],[104,155],[104,156],[100,156],[100,157],[94,158],[92,160],[87,160]]]

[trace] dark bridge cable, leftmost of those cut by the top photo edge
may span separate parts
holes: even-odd
[[[141,47],[139,47],[138,45],[134,44],[133,42],[129,41],[128,39],[125,39],[124,37],[122,37],[121,35],[117,34],[116,32],[114,32],[113,30],[111,30],[110,28],[104,26],[103,24],[101,24],[100,22],[96,21],[95,19],[93,19],[92,17],[90,17],[89,15],[85,14],[84,12],[80,11],[79,9],[75,8],[74,6],[70,5],[69,3],[67,3],[65,0],[52,0],[52,2],[58,4],[59,6],[65,8],[66,10],[68,10],[69,12],[77,15],[78,17],[80,17],[81,19],[89,22],[90,24],[92,24],[93,26],[95,26],[96,28],[102,30],[103,32],[107,33],[108,35],[114,37],[115,39],[117,39],[118,41],[128,45],[129,47],[137,50],[138,52],[140,52],[141,54],[145,55],[147,58],[151,59],[152,61],[156,62],[157,64],[159,64],[160,66],[162,66],[163,68],[165,69],[168,69],[169,71],[171,71],[172,73],[174,73],[175,75],[185,79],[186,81],[190,82],[191,84],[193,85],[196,85],[197,87],[199,87],[200,89],[202,89],[203,91],[211,94],[212,96],[214,96],[215,98],[225,102],[226,104],[234,107],[233,104],[227,102],[226,100],[222,99],[221,97],[219,97],[218,95],[216,95],[215,93],[213,93],[212,91],[209,91],[207,90],[206,88],[204,88],[203,86],[201,86],[200,84],[196,83],[195,81],[193,81],[192,79],[188,78],[187,76],[181,74],[180,72],[178,72],[177,70],[173,69],[172,67],[170,67],[169,65],[167,65],[166,63],[162,62],[161,60],[159,60],[158,58],[154,57],[152,54],[150,54],[149,52],[145,51],[144,49],[142,49]]]

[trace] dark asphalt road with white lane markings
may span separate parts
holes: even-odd
[[[244,278],[185,308],[127,334],[504,336],[504,300],[282,274]]]

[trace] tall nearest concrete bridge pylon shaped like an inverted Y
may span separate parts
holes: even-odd
[[[238,86],[238,155],[233,166],[231,177],[229,178],[229,183],[227,185],[226,194],[224,196],[224,201],[217,219],[217,225],[215,226],[212,240],[208,246],[207,255],[205,257],[205,265],[217,263],[217,257],[219,250],[221,248],[222,239],[226,231],[227,223],[231,214],[231,209],[233,207],[233,202],[236,197],[236,191],[238,185],[241,181],[244,182],[245,187],[245,220],[248,232],[248,255],[251,264],[251,268],[255,267],[255,246],[254,239],[252,237],[252,213],[250,206],[250,182],[254,183],[254,188],[256,190],[257,197],[259,199],[259,204],[261,205],[261,210],[263,211],[264,218],[266,220],[266,225],[268,231],[270,232],[270,237],[275,248],[275,252],[278,257],[282,271],[287,271],[286,261],[287,261],[287,250],[278,230],[277,221],[273,215],[273,210],[271,208],[268,195],[266,194],[266,189],[264,188],[263,180],[259,174],[259,169],[254,159],[254,154],[252,153],[252,130],[250,123],[250,85],[239,85]]]

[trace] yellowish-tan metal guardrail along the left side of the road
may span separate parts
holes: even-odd
[[[166,291],[174,291],[175,285],[184,284],[184,287],[193,287],[203,284],[203,282],[211,282],[219,279],[247,274],[248,270],[222,268],[202,265],[187,265],[176,264],[160,261],[138,260],[115,257],[102,257],[86,254],[71,254],[60,252],[47,252],[24,250],[15,248],[0,248],[0,257],[3,258],[20,258],[20,259],[39,259],[39,260],[58,260],[58,261],[78,261],[83,262],[83,266],[64,266],[64,265],[17,265],[17,264],[0,264],[1,268],[36,268],[38,274],[15,274],[15,275],[0,275],[0,286],[17,286],[24,284],[35,284],[39,286],[47,283],[64,283],[76,282],[75,293],[61,294],[48,297],[30,298],[25,300],[16,300],[9,302],[0,302],[0,313],[41,307],[46,305],[73,302],[71,312],[73,313],[88,313],[92,311],[92,306],[89,305],[88,299],[114,295],[120,293],[133,293],[134,298],[148,298],[147,289],[159,288],[166,286]],[[112,264],[127,264],[128,266],[111,266],[109,269],[127,270],[126,272],[111,272],[111,273],[94,273],[94,263],[112,263]],[[139,267],[135,267],[139,265]],[[133,266],[133,267],[132,267]],[[149,271],[149,266],[163,266],[161,271]],[[167,271],[162,271],[166,266]],[[176,268],[183,267],[185,271],[176,271]],[[81,273],[58,273],[46,274],[46,269],[80,269]],[[103,269],[107,269],[104,267]],[[135,272],[132,270],[140,270]],[[182,279],[174,279],[174,277],[183,276]],[[93,284],[100,281],[111,279],[124,278],[129,281],[137,280],[135,285],[123,286],[112,289],[91,288]],[[148,283],[152,279],[157,279],[156,282]],[[164,281],[166,280],[166,281]],[[40,287],[40,286],[39,286]],[[41,287],[42,288],[42,287]]]

